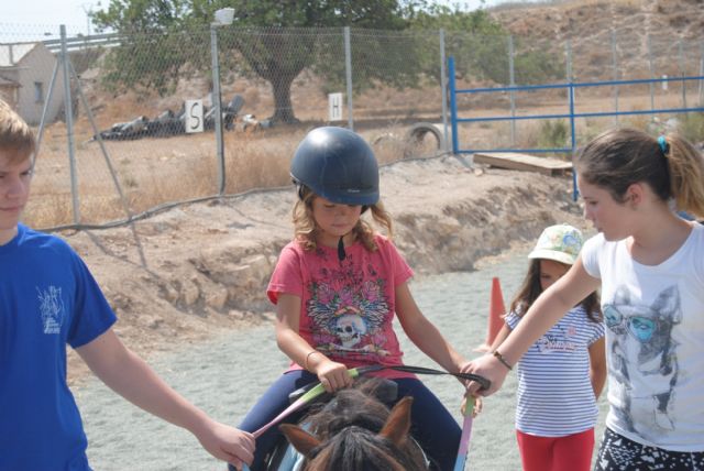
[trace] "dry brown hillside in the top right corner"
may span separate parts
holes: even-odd
[[[657,75],[680,75],[682,69],[689,75],[701,73],[704,0],[505,3],[490,11],[517,37],[553,45],[570,41],[578,74],[610,73],[614,52],[622,77],[638,72],[649,76],[650,58]]]

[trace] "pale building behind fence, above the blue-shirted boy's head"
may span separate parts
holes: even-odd
[[[0,98],[30,124],[38,124],[48,99],[56,57],[42,43],[0,44]],[[64,76],[57,70],[46,122],[64,105]]]

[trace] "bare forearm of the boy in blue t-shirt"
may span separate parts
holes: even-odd
[[[112,329],[76,349],[92,372],[138,407],[189,430],[213,457],[238,468],[250,463],[254,437],[211,419],[168,386]]]

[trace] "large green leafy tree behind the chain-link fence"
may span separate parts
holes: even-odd
[[[185,57],[185,51],[202,44],[213,12],[223,7],[232,7],[235,12],[233,28],[220,31],[221,51],[237,50],[250,69],[272,85],[276,108],[272,120],[290,123],[296,121],[290,87],[301,70],[311,68],[330,77],[343,77],[340,67],[326,66],[331,48],[318,47],[317,30],[311,29],[400,31],[425,7],[425,0],[110,0],[106,11],[94,14],[99,28],[124,34],[122,45],[108,62],[110,81],[122,86],[139,84],[165,92],[187,63],[193,69],[207,67],[202,57]],[[372,54],[375,48],[371,50],[358,54]],[[384,52],[377,50],[376,54]],[[140,74],[134,75],[138,67]],[[399,67],[393,74],[370,73],[355,85],[361,87],[373,79],[394,83],[399,77],[407,83],[408,70],[409,67]],[[410,73],[414,74],[419,70]]]

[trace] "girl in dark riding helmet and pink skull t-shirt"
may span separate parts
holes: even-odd
[[[413,271],[396,247],[361,218],[369,211],[392,233],[366,142],[343,128],[315,129],[296,150],[290,173],[299,197],[295,237],[280,253],[267,295],[276,305],[276,342],[292,363],[244,418],[248,431],[271,421],[288,405],[288,394],[308,383],[319,380],[333,392],[352,383],[350,368],[402,365],[394,315],[447,371],[465,364],[416,305],[407,283]],[[411,434],[436,469],[452,469],[461,432],[451,414],[413,374],[377,374],[397,383],[398,399],[415,398]],[[272,428],[256,440],[253,471],[264,469],[277,435]]]

